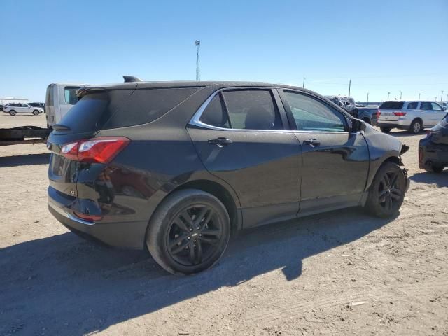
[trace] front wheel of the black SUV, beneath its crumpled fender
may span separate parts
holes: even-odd
[[[373,216],[391,217],[400,210],[405,191],[406,179],[400,166],[385,162],[373,179],[365,208]]]

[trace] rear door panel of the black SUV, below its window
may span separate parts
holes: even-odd
[[[294,134],[190,126],[188,132],[207,170],[229,183],[237,193],[244,228],[295,218],[302,153]],[[209,139],[218,137],[231,139],[232,144],[209,144]]]

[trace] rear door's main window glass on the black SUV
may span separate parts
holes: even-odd
[[[223,92],[230,127],[239,130],[283,130],[271,90]]]

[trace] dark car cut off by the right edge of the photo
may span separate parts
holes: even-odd
[[[448,114],[420,140],[419,167],[436,173],[448,167]]]

